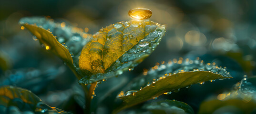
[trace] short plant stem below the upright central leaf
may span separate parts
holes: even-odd
[[[95,90],[95,87],[97,85],[97,82],[95,83],[92,83],[90,88],[89,88],[89,91],[87,92],[87,95],[85,95],[85,112],[86,114],[90,114],[90,108],[91,108],[91,101],[92,101],[92,98],[94,95],[94,90]]]

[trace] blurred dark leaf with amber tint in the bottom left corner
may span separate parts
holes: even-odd
[[[0,114],[71,114],[41,102],[41,99],[29,90],[2,86],[0,88]]]

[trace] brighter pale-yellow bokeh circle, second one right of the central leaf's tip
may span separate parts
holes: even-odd
[[[202,46],[206,43],[206,37],[203,33],[191,30],[185,34],[185,41],[192,46]]]

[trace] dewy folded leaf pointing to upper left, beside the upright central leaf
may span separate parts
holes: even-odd
[[[82,28],[69,26],[67,22],[58,23],[42,17],[22,18],[20,25],[31,31],[34,40],[38,39],[46,49],[60,57],[79,79],[82,77],[78,60],[90,34],[83,32]]]

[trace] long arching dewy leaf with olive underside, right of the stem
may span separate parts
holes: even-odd
[[[189,59],[177,61],[174,59],[173,62],[169,61],[165,65],[153,67],[147,73],[146,76],[144,74],[135,78],[125,89],[133,91],[126,92],[126,95],[122,91],[118,95],[124,102],[115,112],[192,84],[203,84],[205,81],[231,78],[225,69],[213,65],[204,65],[199,58],[194,61]]]

